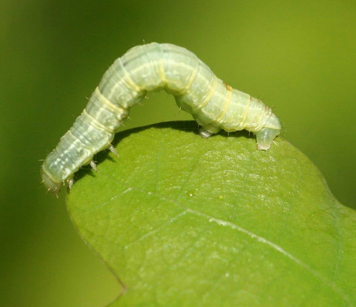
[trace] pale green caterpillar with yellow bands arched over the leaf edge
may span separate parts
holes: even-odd
[[[43,162],[45,187],[57,194],[64,181],[72,186],[81,166],[90,163],[96,169],[94,154],[106,148],[115,153],[111,141],[131,106],[146,92],[161,89],[193,115],[202,137],[221,129],[246,129],[256,135],[258,149],[267,150],[281,130],[278,118],[261,100],[232,89],[194,53],[168,43],[136,46],[109,67],[83,113]]]

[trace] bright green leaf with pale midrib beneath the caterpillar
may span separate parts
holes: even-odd
[[[356,213],[281,137],[197,134],[195,122],[116,136],[67,205],[123,285],[110,306],[356,306]]]

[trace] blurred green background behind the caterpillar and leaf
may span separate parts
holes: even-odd
[[[145,42],[186,47],[263,98],[283,137],[356,208],[355,1],[1,1],[0,305],[104,306],[119,289],[41,186],[40,159],[105,70]],[[125,128],[190,120],[153,93]]]

